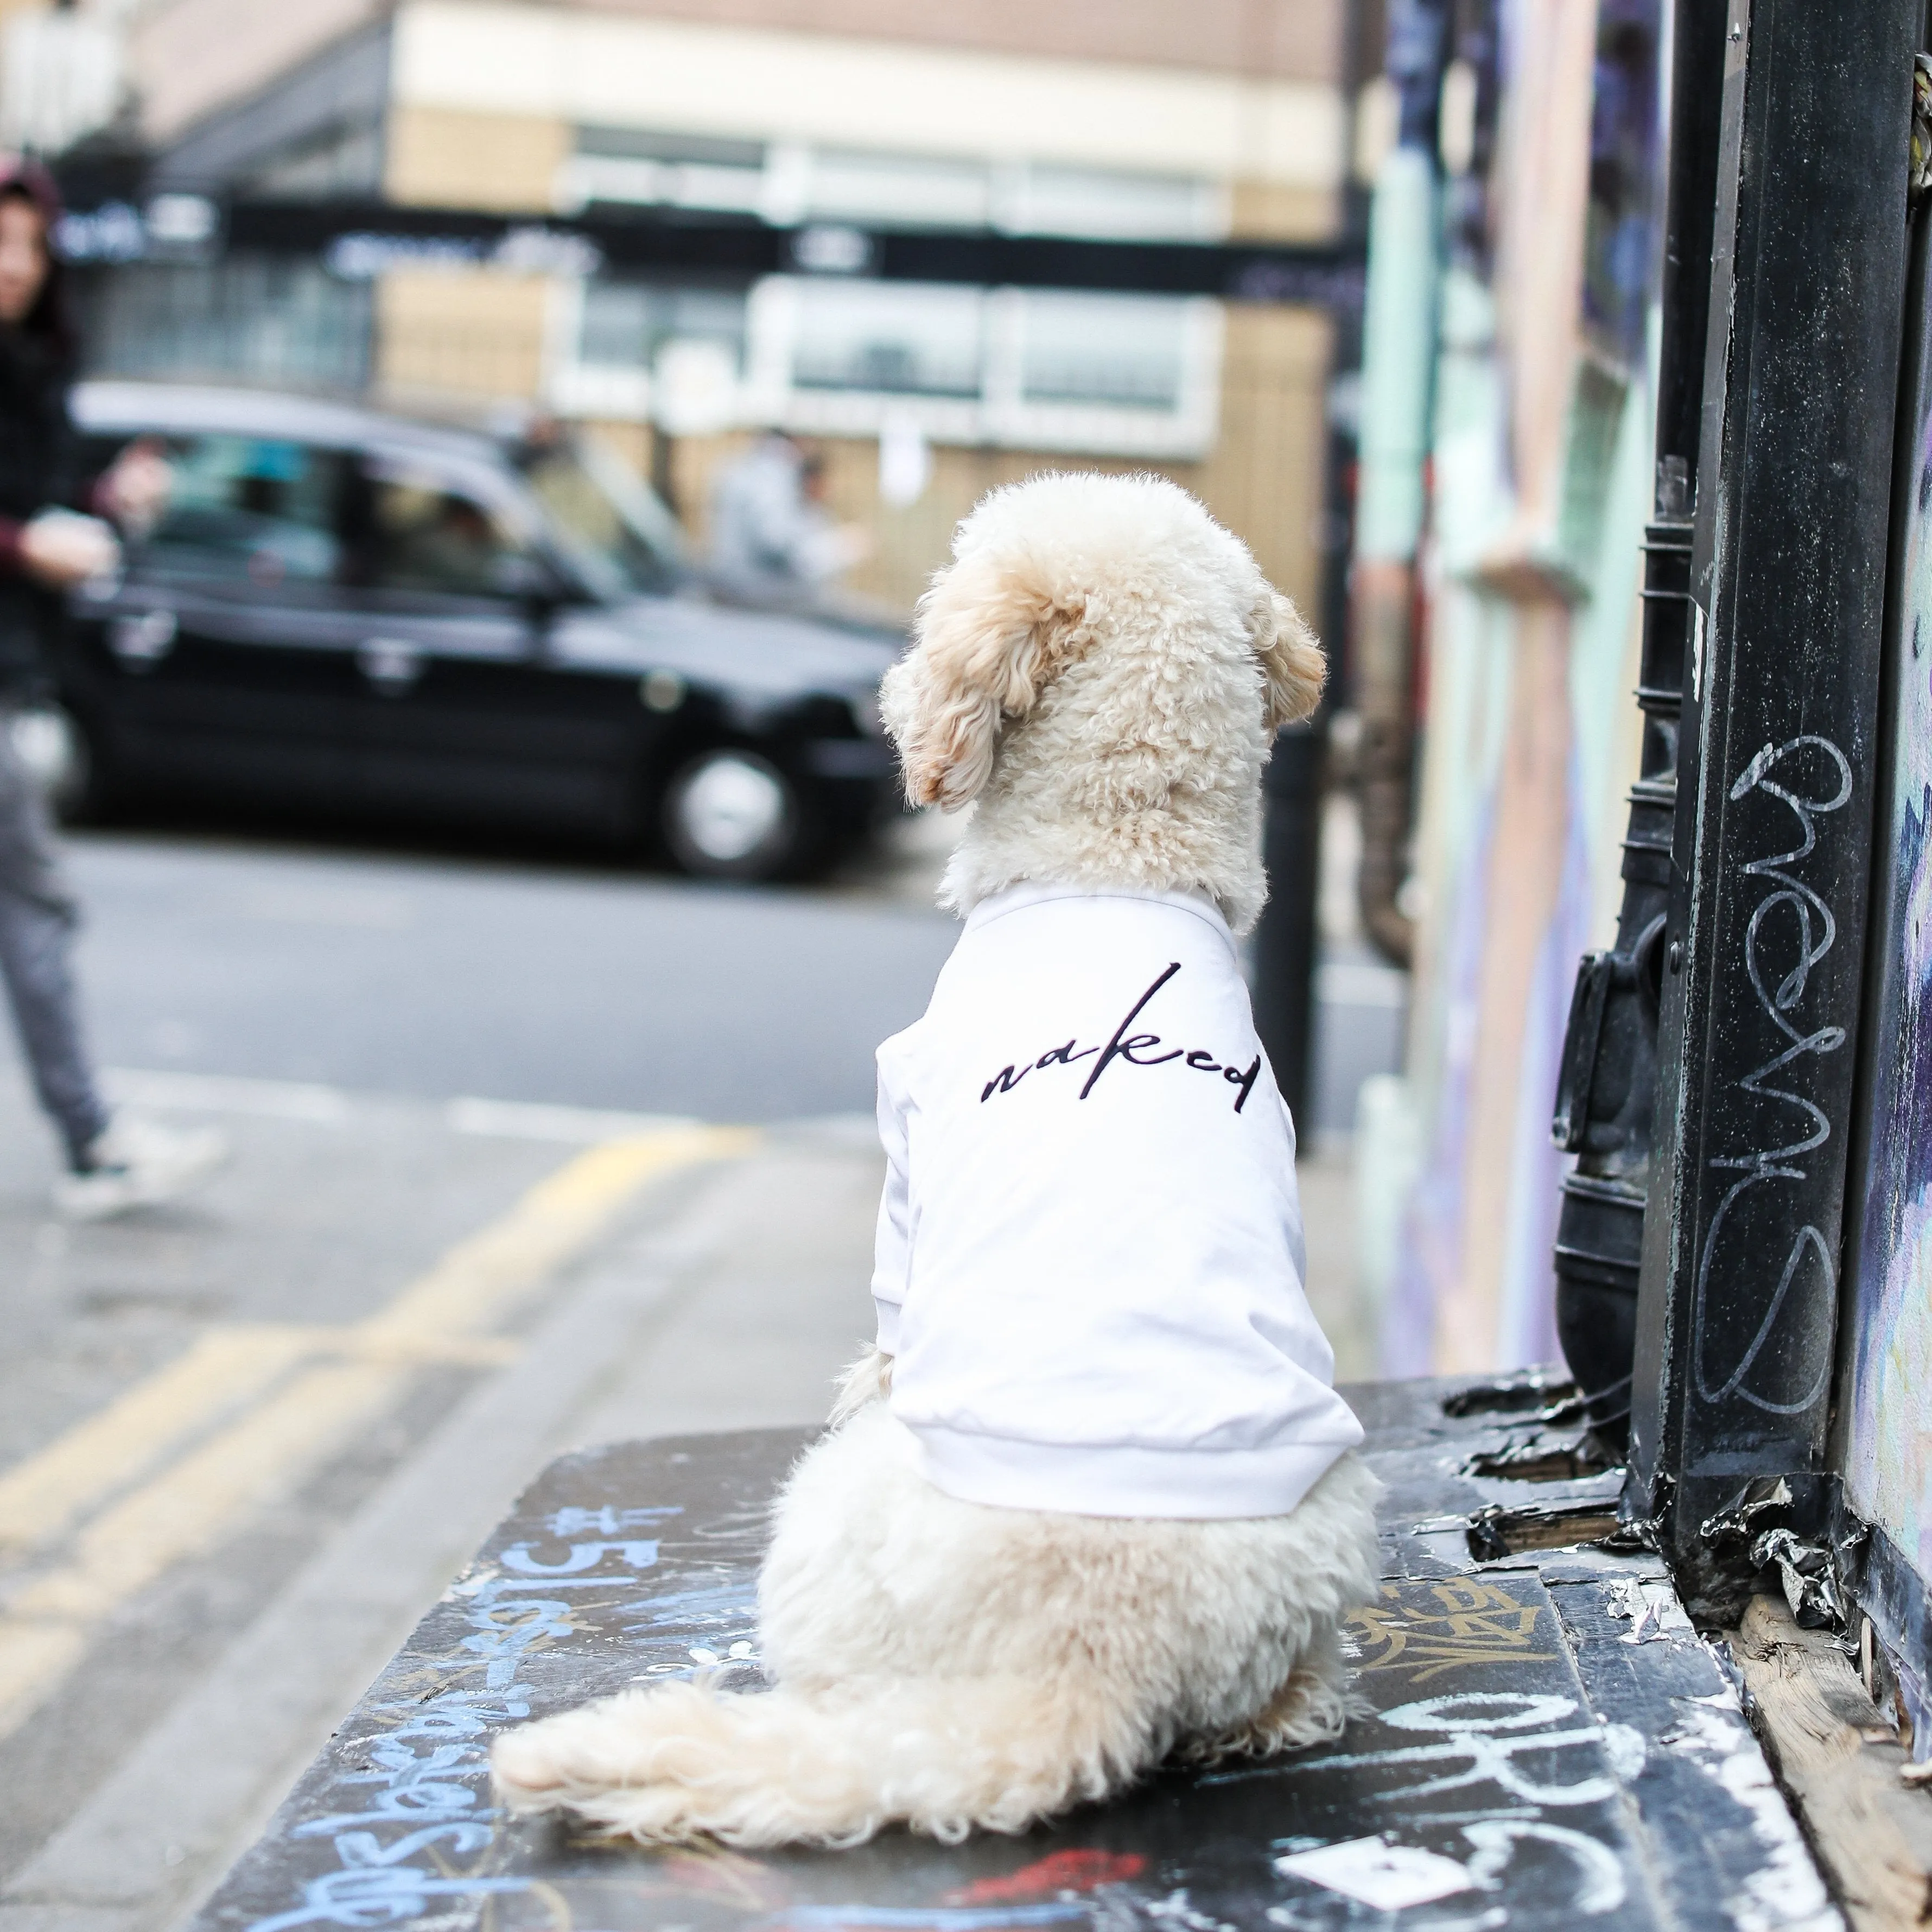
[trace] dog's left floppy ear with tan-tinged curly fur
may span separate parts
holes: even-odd
[[[912,804],[958,811],[980,796],[1001,726],[1059,672],[1084,609],[1084,599],[1057,599],[1010,551],[968,551],[933,580],[918,641],[879,692]]]

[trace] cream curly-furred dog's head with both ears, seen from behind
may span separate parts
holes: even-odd
[[[985,790],[1049,692],[1078,713],[1082,759],[1121,761],[1124,794],[1099,790],[1144,804],[1186,784],[1190,753],[1217,734],[1264,740],[1308,717],[1325,676],[1246,547],[1150,475],[993,491],[960,524],[914,636],[881,709],[906,796],[949,811]]]

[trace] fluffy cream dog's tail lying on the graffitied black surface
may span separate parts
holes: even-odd
[[[1138,1716],[1078,1679],[670,1683],[508,1731],[493,1768],[512,1812],[570,1810],[645,1843],[856,1845],[893,1822],[956,1843],[1122,1789],[1167,1745]]]

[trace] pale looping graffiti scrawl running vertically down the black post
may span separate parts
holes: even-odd
[[[1812,798],[1803,790],[1793,790],[1789,784],[1776,782],[1772,777],[1774,771],[1801,752],[1822,752],[1830,759],[1837,773],[1837,788],[1830,798]],[[1816,1026],[1810,1032],[1804,1032],[1791,1020],[1793,1009],[1804,997],[1804,989],[1810,983],[1812,968],[1818,966],[1818,962],[1837,943],[1837,922],[1832,918],[1832,908],[1824,902],[1824,898],[1820,898],[1818,893],[1814,893],[1803,879],[1783,867],[1795,866],[1816,848],[1816,819],[1828,811],[1841,810],[1849,802],[1851,763],[1830,738],[1806,732],[1781,746],[1768,744],[1762,752],[1758,752],[1758,755],[1745,767],[1737,782],[1731,786],[1731,798],[1739,800],[1748,792],[1764,792],[1768,798],[1776,798],[1779,804],[1789,808],[1791,815],[1797,819],[1799,842],[1789,852],[1774,852],[1768,858],[1758,858],[1745,866],[1745,877],[1772,881],[1772,889],[1752,908],[1750,920],[1745,925],[1745,974],[1750,980],[1750,989],[1756,995],[1758,1005],[1783,1036],[1785,1045],[1762,1066],[1745,1074],[1737,1086],[1756,1099],[1772,1099],[1781,1101],[1787,1107],[1797,1107],[1808,1121],[1808,1130],[1783,1146],[1762,1148],[1754,1153],[1721,1155],[1710,1163],[1712,1167],[1737,1173],[1739,1179],[1731,1182],[1723,1198],[1718,1202],[1718,1209],[1710,1217],[1710,1227],[1704,1233],[1704,1252],[1698,1256],[1696,1294],[1690,1318],[1692,1366],[1698,1395],[1706,1403],[1721,1403],[1735,1395],[1741,1403],[1748,1403],[1752,1408],[1760,1408],[1766,1414],[1797,1416],[1808,1410],[1824,1395],[1826,1381],[1832,1376],[1828,1329],[1820,1329],[1816,1337],[1806,1337],[1808,1352],[1816,1356],[1818,1366],[1816,1376],[1803,1395],[1795,1399],[1781,1399],[1762,1387],[1752,1387],[1750,1374],[1758,1366],[1774,1331],[1777,1329],[1777,1318],[1783,1312],[1791,1294],[1791,1285],[1797,1279],[1799,1267],[1804,1264],[1806,1256],[1814,1258],[1816,1265],[1824,1269],[1826,1283],[1835,1289],[1832,1246],[1818,1227],[1804,1221],[1791,1236],[1791,1244],[1785,1252],[1783,1273],[1777,1277],[1777,1287],[1772,1293],[1750,1341],[1745,1345],[1745,1350],[1739,1354],[1729,1374],[1718,1376],[1708,1368],[1708,1343],[1712,1337],[1706,1331],[1704,1310],[1710,1293],[1712,1264],[1718,1256],[1731,1209],[1752,1188],[1772,1186],[1779,1180],[1808,1180],[1808,1173],[1793,1163],[1799,1155],[1816,1151],[1832,1138],[1832,1121],[1826,1111],[1803,1094],[1793,1094],[1789,1088],[1774,1086],[1772,1078],[1806,1057],[1837,1053],[1845,1045],[1845,1028],[1841,1026]],[[1787,912],[1797,922],[1797,958],[1789,972],[1785,972],[1783,980],[1779,980],[1776,987],[1770,987],[1766,985],[1764,956],[1760,947],[1764,941],[1766,922],[1779,910]]]

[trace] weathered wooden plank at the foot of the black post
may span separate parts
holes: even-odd
[[[1855,1932],[1932,1920],[1932,1793],[1824,1631],[1801,1631],[1781,1598],[1752,1598],[1731,1636],[1750,1714]]]

